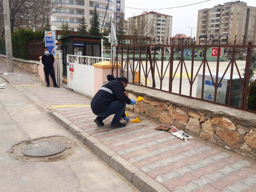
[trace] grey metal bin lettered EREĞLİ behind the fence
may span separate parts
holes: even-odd
[[[198,82],[197,82],[197,89],[196,89],[196,98],[201,98],[202,92],[202,74],[198,74]],[[218,82],[221,80],[223,73],[219,73]],[[216,80],[216,73],[212,73],[213,80]],[[244,80],[244,77],[242,80]],[[243,86],[241,84],[240,78],[238,75],[233,75],[232,77],[232,85],[231,85],[231,98],[230,98],[230,105],[240,107],[241,100],[242,100],[242,92]],[[225,74],[223,77],[216,95],[216,102],[228,104],[228,92],[230,86],[230,74]],[[205,73],[204,76],[204,91],[203,91],[203,99],[208,101],[214,101],[214,85],[210,76],[210,73]]]

